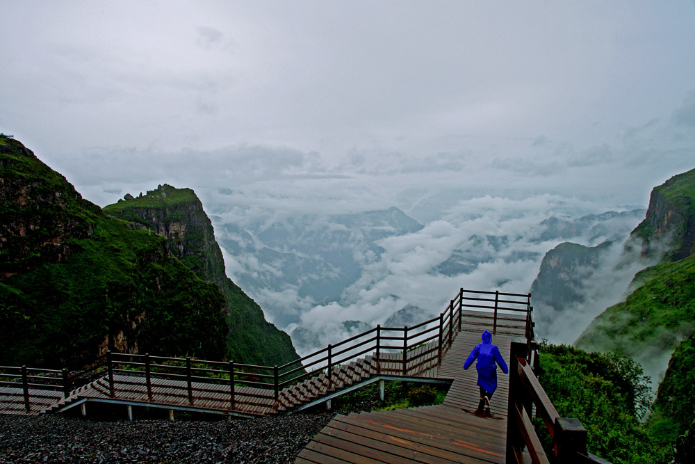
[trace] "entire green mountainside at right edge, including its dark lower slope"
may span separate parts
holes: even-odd
[[[676,463],[689,462],[683,456],[695,453],[692,435],[678,436],[695,419],[695,170],[653,189],[646,218],[626,243],[636,245],[660,263],[637,273],[632,293],[596,317],[575,346],[628,355],[655,381],[670,358],[647,430],[664,449],[676,442]]]

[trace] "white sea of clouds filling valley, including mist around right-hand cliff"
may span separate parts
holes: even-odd
[[[353,243],[352,257],[354,264],[359,266],[358,275],[332,301],[318,301],[311,294],[302,293],[297,285],[300,279],[293,275],[297,269],[292,266],[259,259],[260,250],[268,248],[268,243],[258,238],[264,230],[277,227],[294,230],[293,237],[322,230],[322,225],[329,220],[323,211],[311,209],[311,201],[305,204],[299,198],[292,198],[291,189],[280,198],[267,198],[268,201],[259,201],[258,195],[243,191],[225,191],[223,199],[218,197],[220,202],[208,202],[207,207],[214,217],[215,233],[222,243],[229,277],[235,282],[244,282],[243,289],[263,307],[268,320],[291,333],[300,354],[355,335],[365,327],[384,323],[408,305],[419,309],[420,320],[435,317],[454,298],[459,287],[527,293],[538,274],[543,255],[558,243],[573,241],[596,246],[609,239],[622,243],[644,218],[644,210],[612,219],[591,216],[589,221],[584,221],[583,227],[576,227],[568,234],[552,230],[543,221],[555,217],[573,223],[587,214],[604,211],[591,202],[560,195],[539,194],[518,199],[493,195],[465,198],[465,195],[469,193],[420,192],[416,201],[411,202],[404,200],[414,196],[408,192],[396,195],[400,198],[397,206],[420,221],[422,227],[405,234],[395,231],[374,243],[361,242],[361,231],[353,230],[357,239]],[[358,192],[353,198],[357,200],[360,196]],[[256,199],[251,201],[253,205],[250,205],[251,198]],[[345,192],[341,198],[342,206],[334,205],[332,213],[349,211],[359,216],[373,211],[359,211],[357,201],[345,204]],[[429,207],[423,209],[423,204]],[[233,224],[236,232],[227,232],[224,227],[227,224]],[[239,230],[243,230],[245,239],[240,237]],[[234,241],[245,241],[246,248],[225,247],[225,243]],[[297,241],[288,241],[277,251],[306,253],[298,248]],[[371,253],[370,248],[377,252]],[[606,257],[608,269],[619,255],[613,251]],[[319,255],[315,258],[320,262]],[[612,290],[607,293],[617,298],[622,296],[632,278],[630,272],[634,275],[634,270],[630,269],[622,273],[621,278],[613,273]],[[275,285],[268,284],[270,277]],[[312,278],[310,275],[304,277]],[[313,277],[321,278],[320,275]],[[594,279],[592,282],[605,284],[606,281]],[[587,292],[594,291],[592,288],[587,285]],[[605,289],[602,292],[605,293]],[[573,320],[567,330],[555,327],[540,335],[554,342],[571,342],[572,337],[605,309],[605,303],[611,301],[610,298],[587,298],[585,303],[591,310],[579,308],[575,312],[574,319],[582,320]],[[361,324],[346,324],[346,321],[360,321]]]

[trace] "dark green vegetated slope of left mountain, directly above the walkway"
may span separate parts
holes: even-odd
[[[167,256],[164,240],[100,218],[82,251],[0,283],[0,342],[8,364],[74,364],[125,337],[139,351],[220,359],[223,301]],[[69,336],[66,336],[69,335]]]

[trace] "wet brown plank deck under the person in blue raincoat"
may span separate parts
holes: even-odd
[[[295,463],[504,463],[509,376],[498,369],[498,389],[490,413],[480,410],[475,366],[464,371],[463,365],[480,343],[482,330],[493,329],[488,318],[468,316],[473,320],[464,322],[464,330],[456,333],[436,373],[438,378],[453,379],[443,404],[338,415],[300,452]],[[498,321],[493,343],[507,364],[510,342],[523,337],[524,329],[525,321],[518,317]]]

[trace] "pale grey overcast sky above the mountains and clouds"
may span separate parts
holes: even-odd
[[[0,131],[99,205],[163,182],[646,205],[695,167],[692,0],[0,8]]]

